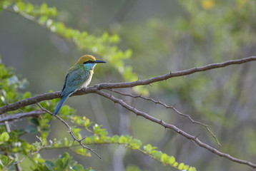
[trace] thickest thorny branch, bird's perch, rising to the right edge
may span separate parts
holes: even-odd
[[[235,64],[241,64],[241,63],[247,63],[250,61],[256,61],[256,56],[250,56],[247,58],[241,58],[237,60],[230,60],[230,61],[225,61],[222,63],[212,63],[207,66],[200,66],[200,67],[195,67],[195,68],[190,68],[187,70],[183,71],[175,71],[175,72],[170,72],[167,74],[164,74],[162,76],[156,76],[152,77],[149,79],[145,80],[138,80],[138,81],[133,81],[133,82],[124,82],[124,83],[100,83],[95,86],[91,86],[89,88],[83,88],[80,90],[77,90],[76,93],[73,95],[85,95],[88,93],[94,93],[97,90],[101,89],[109,89],[109,88],[132,88],[134,86],[144,86],[144,85],[149,85],[150,83],[156,83],[158,81],[164,81],[172,77],[179,77],[179,76],[187,76],[192,73],[197,73],[197,72],[202,72],[202,71],[208,71],[214,68],[223,68],[225,66],[230,66],[230,65],[235,65]],[[22,108],[26,105],[32,105],[35,103],[39,103],[43,100],[51,100],[54,98],[59,97],[59,91],[53,92],[53,93],[44,93],[41,95],[37,95],[32,98],[26,98],[24,100],[19,100],[16,103],[11,103],[4,105],[3,107],[0,108],[0,114],[12,111],[12,110],[17,110],[19,108]]]

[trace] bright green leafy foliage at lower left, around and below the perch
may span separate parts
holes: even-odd
[[[1,103],[6,103],[5,99],[9,99],[13,101],[13,98],[9,98],[10,94],[14,94],[11,97],[22,97],[28,98],[30,97],[30,93],[18,93],[18,87],[21,82],[14,75],[13,71],[10,68],[5,68],[4,64],[0,64],[1,67],[1,92],[6,92],[6,95],[2,96]],[[10,78],[16,78],[16,81],[12,81]],[[12,87],[10,89],[10,87]],[[56,100],[44,101],[41,102],[41,106],[46,108],[47,110],[54,110],[56,106]],[[23,108],[24,112],[30,111],[32,107]],[[35,109],[35,108],[33,108]],[[153,159],[162,162],[162,165],[170,165],[177,170],[195,170],[195,167],[189,167],[188,165],[184,165],[184,163],[175,162],[175,158],[173,156],[168,156],[166,153],[163,153],[157,150],[157,147],[152,147],[152,145],[145,145],[143,149],[141,148],[142,142],[140,140],[134,139],[129,135],[114,135],[112,137],[107,136],[107,131],[102,128],[101,125],[93,124],[88,118],[81,117],[79,115],[74,115],[74,109],[70,108],[67,105],[64,105],[61,108],[61,118],[66,120],[71,120],[74,123],[74,127],[72,127],[72,131],[74,135],[82,139],[81,133],[84,133],[84,130],[91,133],[91,136],[84,138],[82,141],[84,145],[97,145],[97,144],[118,144],[124,145],[124,147],[128,147],[132,150],[138,150],[139,152],[144,153],[144,155],[149,155]],[[12,113],[14,114],[14,113]],[[30,118],[29,124],[26,126],[26,129],[20,130],[11,130],[9,133],[6,132],[6,128],[4,125],[0,127],[0,148],[5,155],[1,156],[1,169],[8,168],[10,170],[14,170],[14,164],[16,162],[30,162],[34,163],[34,165],[26,164],[26,167],[30,167],[31,170],[34,171],[51,171],[51,170],[74,170],[74,171],[83,171],[84,167],[82,165],[77,164],[77,162],[72,161],[72,157],[68,152],[65,152],[63,155],[59,157],[57,160],[45,160],[44,157],[40,155],[41,150],[52,150],[52,149],[62,149],[67,148],[72,150],[72,152],[77,153],[78,155],[82,155],[84,157],[91,157],[91,153],[88,150],[84,150],[84,148],[79,145],[78,142],[74,142],[74,140],[70,138],[62,138],[57,140],[47,140],[49,136],[49,129],[47,128],[47,123],[51,115],[41,115],[40,118]],[[7,125],[9,123],[6,123]],[[38,134],[39,135],[35,135]],[[38,140],[33,143],[29,143],[26,140],[22,140],[20,138],[21,135],[32,134],[35,135]],[[12,156],[17,154],[19,158],[24,157],[15,162]],[[11,157],[11,158],[10,158]],[[16,159],[17,160],[17,159]],[[129,168],[131,170],[131,168]],[[85,171],[92,171],[92,168],[89,167],[85,169]]]

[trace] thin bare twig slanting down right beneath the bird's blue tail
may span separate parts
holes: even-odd
[[[39,103],[36,103],[36,105],[39,106],[39,108],[41,108],[41,110],[44,110],[44,112],[46,113],[49,113],[50,115],[52,115],[52,113],[49,111],[49,110],[46,110],[45,108],[41,107],[41,105]],[[90,152],[93,152],[94,155],[97,155],[97,157],[99,157],[100,159],[102,159],[102,157],[100,157],[100,155],[97,154],[97,152],[95,152],[92,148],[89,148],[85,145],[83,145],[82,141],[85,139],[85,138],[82,138],[81,140],[77,139],[76,136],[74,135],[73,131],[72,131],[72,128],[69,126],[69,124],[64,121],[63,119],[61,119],[58,115],[55,115],[56,118],[58,118],[62,123],[64,123],[64,125],[67,126],[67,128],[69,129],[69,133],[70,135],[72,135],[72,138],[74,141],[77,141],[79,142],[79,144],[84,148],[84,149],[87,149],[89,150]]]

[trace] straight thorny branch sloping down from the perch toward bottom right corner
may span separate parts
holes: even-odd
[[[144,113],[142,111],[137,110],[136,108],[133,108],[132,106],[128,105],[127,103],[124,102],[124,100],[121,100],[119,98],[115,98],[113,95],[104,93],[102,90],[97,90],[95,93],[102,95],[105,98],[109,98],[109,100],[112,100],[114,103],[118,103],[119,105],[122,105],[124,108],[127,110],[131,111],[132,113],[135,113],[136,115],[140,115],[143,118],[146,118],[147,120],[150,120],[154,123],[158,123],[159,125],[162,125],[164,128],[169,128],[171,130],[174,130],[174,132],[179,133],[180,135],[184,136],[185,138],[192,140],[192,142],[195,142],[197,145],[200,147],[204,147],[205,149],[209,150],[212,153],[215,153],[219,155],[220,157],[225,157],[229,160],[232,160],[233,162],[238,162],[244,165],[249,165],[250,167],[256,168],[256,164],[252,162],[248,162],[246,160],[240,160],[236,157],[232,157],[231,155],[220,152],[217,150],[215,147],[211,147],[210,145],[205,144],[204,142],[200,141],[197,136],[190,135],[189,133],[184,132],[183,130],[177,128],[174,125],[164,123],[163,120],[159,120],[157,118],[152,117],[151,115],[148,115],[147,113]]]

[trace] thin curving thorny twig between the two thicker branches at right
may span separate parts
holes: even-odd
[[[132,95],[132,94],[129,94],[129,93],[123,93],[121,91],[118,91],[118,90],[113,90],[113,89],[108,89],[114,93],[118,93],[120,95],[124,95],[124,96],[129,96],[129,97],[132,97],[132,98],[142,98],[144,100],[149,100],[149,101],[152,101],[153,103],[156,103],[156,104],[159,104],[159,105],[162,105],[164,106],[164,108],[170,108],[172,110],[174,110],[177,114],[179,115],[182,115],[186,118],[188,118],[192,123],[195,123],[195,124],[198,124],[198,125],[202,125],[206,128],[206,130],[212,135],[212,137],[215,139],[215,141],[217,142],[218,145],[222,146],[219,142],[219,140],[217,139],[217,136],[212,133],[212,130],[210,130],[209,126],[206,125],[205,123],[200,123],[199,121],[197,120],[193,120],[189,115],[187,114],[184,114],[184,113],[181,113],[179,112],[179,110],[177,110],[176,108],[174,108],[174,105],[170,106],[170,105],[167,105],[165,103],[162,103],[160,100],[154,100],[154,98],[147,98],[147,97],[144,97],[143,95]]]

